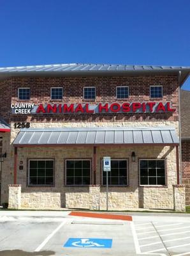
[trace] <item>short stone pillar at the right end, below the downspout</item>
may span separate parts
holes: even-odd
[[[184,185],[173,185],[174,210],[186,211],[186,190]]]

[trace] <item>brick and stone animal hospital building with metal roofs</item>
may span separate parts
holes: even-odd
[[[110,156],[110,210],[184,211],[179,90],[189,71],[0,68],[1,204],[106,209],[103,157]]]

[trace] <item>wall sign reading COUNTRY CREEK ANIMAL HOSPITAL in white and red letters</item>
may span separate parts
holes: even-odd
[[[12,114],[107,114],[107,113],[171,113],[170,102],[114,102],[112,104],[11,104]]]

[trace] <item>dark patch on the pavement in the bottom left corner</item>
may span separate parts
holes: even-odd
[[[4,250],[0,251],[0,256],[50,256],[55,255],[53,251],[26,252],[22,250]]]

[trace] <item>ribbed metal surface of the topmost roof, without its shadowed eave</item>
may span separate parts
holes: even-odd
[[[1,67],[2,73],[17,72],[101,72],[101,71],[163,71],[163,70],[190,70],[190,67],[182,66],[151,66],[151,65],[116,65],[116,64],[55,64],[55,65],[35,65],[22,67]]]

